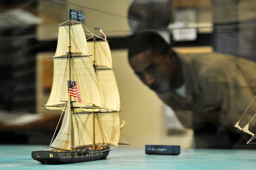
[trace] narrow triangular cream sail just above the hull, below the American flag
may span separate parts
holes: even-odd
[[[55,140],[50,144],[52,148],[58,148],[63,150],[71,150],[71,109],[70,100],[67,101],[67,107],[63,117],[63,122],[59,133]]]

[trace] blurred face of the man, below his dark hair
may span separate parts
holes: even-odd
[[[176,67],[169,53],[160,54],[149,49],[134,55],[129,62],[135,74],[150,89],[163,93],[171,88]]]

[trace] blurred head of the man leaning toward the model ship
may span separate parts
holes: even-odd
[[[169,44],[158,33],[134,35],[128,50],[131,67],[150,89],[163,93],[173,88],[178,61]]]

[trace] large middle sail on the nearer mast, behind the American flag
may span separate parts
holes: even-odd
[[[69,98],[67,70],[69,70],[68,58],[54,58],[54,78],[50,97],[45,105],[47,109],[65,109],[58,106],[63,105]],[[98,111],[99,109],[82,108],[93,105],[101,107],[98,83],[89,57],[72,58],[71,70],[71,80],[77,81],[82,97],[82,103],[75,102],[73,105],[81,107],[80,111]],[[72,97],[71,100],[76,101],[76,98]]]

